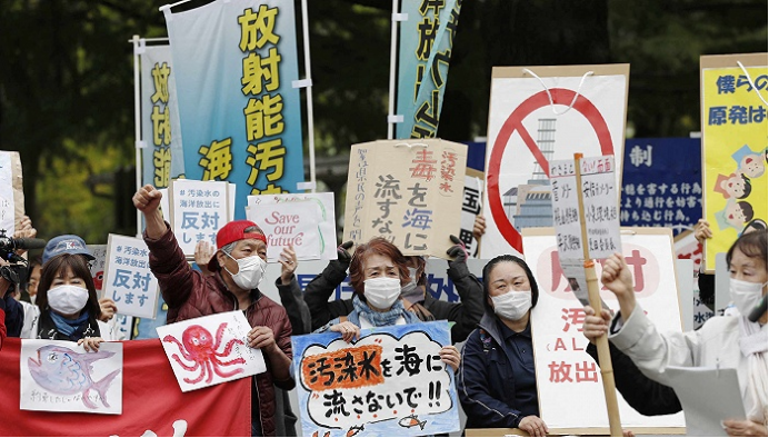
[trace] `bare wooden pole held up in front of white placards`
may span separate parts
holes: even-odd
[[[581,153],[575,153],[575,175],[577,176],[577,187],[582,187],[582,172],[580,169]],[[582,235],[582,257],[585,258],[585,277],[588,282],[588,299],[590,307],[596,309],[596,313],[600,315],[603,308],[601,303],[601,295],[598,286],[598,277],[596,276],[596,266],[590,259],[588,249],[588,230],[585,223],[585,202],[582,195],[577,196],[579,201],[579,221]],[[603,334],[596,339],[598,347],[598,365],[601,368],[601,380],[603,381],[603,397],[606,398],[606,407],[609,414],[609,431],[612,437],[622,436],[622,425],[619,419],[619,405],[617,402],[617,390],[615,386],[615,369],[611,366],[611,355],[609,354],[609,337]]]

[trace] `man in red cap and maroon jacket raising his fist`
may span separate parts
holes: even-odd
[[[163,220],[158,209],[161,196],[147,185],[136,192],[133,205],[144,215],[150,269],[168,305],[167,322],[238,309],[246,313],[252,327],[249,346],[260,348],[267,362],[267,372],[254,376],[251,386],[251,435],[274,436],[282,412],[276,409],[272,385],[290,390],[294,381],[289,375],[291,323],[283,307],[258,289],[267,266],[267,238],[249,220],[227,223],[217,233],[217,253],[208,265],[216,273],[203,276],[189,266],[171,227]],[[280,263],[278,288],[299,289],[293,276],[296,255],[290,248],[283,249]]]

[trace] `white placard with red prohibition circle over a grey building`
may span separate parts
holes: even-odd
[[[493,68],[482,258],[521,253],[521,229],[552,226],[550,160],[612,155],[622,168],[629,71],[629,64]]]

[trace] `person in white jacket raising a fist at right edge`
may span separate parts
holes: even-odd
[[[756,322],[748,316],[767,295],[767,231],[743,233],[727,252],[729,293],[738,313],[716,316],[696,331],[660,334],[636,302],[632,276],[625,258],[607,259],[601,281],[619,301],[610,317],[587,316],[585,335],[609,331],[609,340],[628,355],[643,374],[670,385],[667,367],[733,368],[747,418],[723,418],[729,436],[767,436],[767,313]],[[609,329],[610,327],[610,329]]]

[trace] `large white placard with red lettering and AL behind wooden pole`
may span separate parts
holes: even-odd
[[[669,229],[636,228],[622,233],[622,253],[633,275],[636,298],[657,328],[681,331],[672,233]],[[631,231],[632,230],[632,231]],[[609,418],[598,364],[585,351],[585,311],[558,265],[552,229],[523,232],[526,260],[539,286],[531,312],[540,418],[550,429],[607,428]],[[596,263],[600,278],[600,265]],[[613,309],[615,295],[601,289]],[[683,412],[645,417],[618,396],[622,427],[636,434],[643,427],[683,427]],[[578,400],[566,402],[566,400]],[[588,434],[589,435],[589,434]]]

